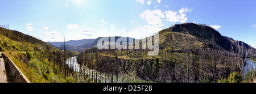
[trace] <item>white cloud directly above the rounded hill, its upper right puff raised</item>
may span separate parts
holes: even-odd
[[[185,23],[188,21],[188,18],[186,17],[187,14],[185,14],[186,12],[189,12],[191,10],[189,10],[187,7],[183,7],[179,10],[179,14],[176,11],[165,11],[164,14],[166,14],[166,18],[169,22],[180,22],[180,23]]]

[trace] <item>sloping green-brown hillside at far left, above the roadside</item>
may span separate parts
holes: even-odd
[[[52,45],[47,44],[35,37],[25,35],[22,32],[13,31],[0,27],[0,50],[1,51],[41,51],[57,50]]]

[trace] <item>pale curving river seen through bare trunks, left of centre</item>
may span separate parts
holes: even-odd
[[[94,82],[101,83],[152,83],[152,81],[140,79],[137,75],[127,75],[127,74],[116,74],[116,72],[104,72],[104,71],[96,71],[95,69],[90,69],[86,66],[80,66],[77,63],[77,57],[70,57],[65,62],[71,70],[77,72],[77,74],[86,74],[90,79]]]

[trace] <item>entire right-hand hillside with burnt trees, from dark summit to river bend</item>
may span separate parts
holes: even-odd
[[[142,40],[139,43],[140,47],[146,45]],[[232,75],[242,76],[245,71],[241,68],[245,58],[241,55],[245,53],[238,53],[238,45],[243,45],[243,50],[250,49],[249,56],[255,54],[250,45],[222,36],[208,25],[185,23],[159,31],[158,55],[147,55],[148,49],[87,49],[79,54],[77,61],[90,69],[112,74],[109,78],[130,75],[124,78],[126,82],[137,82],[136,78],[174,83],[229,82],[234,79]],[[250,82],[247,77],[236,82]]]

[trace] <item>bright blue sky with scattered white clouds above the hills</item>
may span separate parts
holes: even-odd
[[[212,25],[256,47],[254,0],[0,0],[0,24],[43,41],[141,39],[176,23]],[[115,33],[110,33],[114,25]]]

